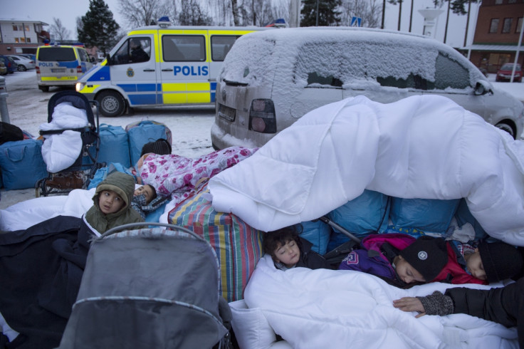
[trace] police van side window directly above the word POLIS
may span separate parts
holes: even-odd
[[[205,37],[201,35],[162,36],[164,62],[206,61]]]

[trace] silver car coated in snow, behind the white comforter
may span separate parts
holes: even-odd
[[[327,103],[424,94],[446,96],[515,138],[524,130],[523,103],[444,43],[371,28],[282,28],[241,36],[227,54],[211,142],[261,147]]]

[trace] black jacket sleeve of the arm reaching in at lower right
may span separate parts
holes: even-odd
[[[454,303],[454,314],[464,313],[500,323],[517,326],[518,345],[524,349],[524,277],[501,288],[477,290],[449,288],[445,296]]]

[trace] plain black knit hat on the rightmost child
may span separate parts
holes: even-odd
[[[512,278],[523,267],[523,257],[518,249],[504,242],[483,241],[478,245],[478,252],[481,254],[488,283]]]

